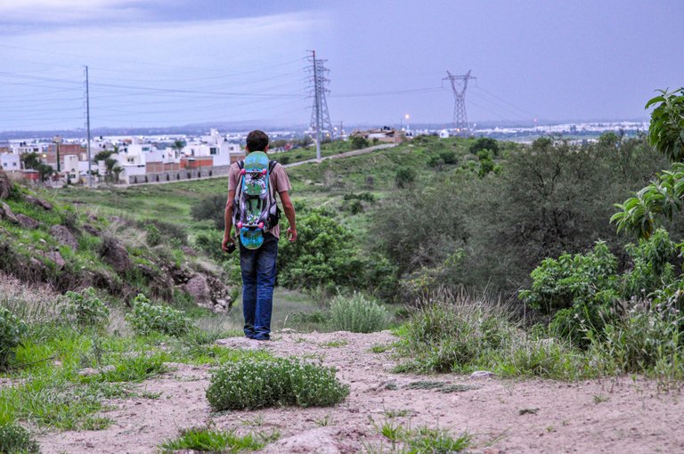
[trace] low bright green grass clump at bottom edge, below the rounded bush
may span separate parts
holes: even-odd
[[[240,450],[261,450],[269,442],[280,438],[280,433],[249,433],[238,435],[235,431],[224,432],[208,427],[184,429],[175,440],[167,440],[159,448],[162,452],[193,450],[199,452],[238,452]]]

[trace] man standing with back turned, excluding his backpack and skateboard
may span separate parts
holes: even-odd
[[[247,135],[247,153],[250,151],[268,150],[268,135],[263,131],[252,131]],[[221,247],[228,251],[230,243],[237,245],[232,236],[232,204],[235,191],[240,184],[240,166],[232,164],[228,171],[228,201],[225,203],[225,231]],[[297,239],[297,224],[295,223],[295,207],[289,199],[292,188],[289,185],[288,174],[280,164],[273,167],[268,182],[269,191],[275,199],[275,194],[281,198],[282,208],[289,221],[287,236],[289,241]],[[236,237],[240,231],[236,230]],[[278,256],[278,239],[281,227],[276,224],[264,232],[264,244],[257,249],[248,249],[240,245],[240,271],[242,272],[242,313],[245,317],[245,336],[250,339],[268,340],[271,336],[271,314],[273,312],[273,287],[275,286],[276,266]]]

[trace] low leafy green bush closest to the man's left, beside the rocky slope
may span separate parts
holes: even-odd
[[[192,327],[192,322],[185,317],[185,312],[151,304],[150,299],[142,294],[135,296],[133,311],[126,314],[126,321],[139,336],[146,336],[153,332],[169,336],[183,336]]]

